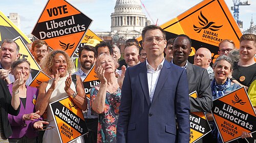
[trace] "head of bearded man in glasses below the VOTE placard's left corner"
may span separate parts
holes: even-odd
[[[38,65],[44,56],[48,53],[48,44],[44,40],[35,40],[32,43],[31,53]]]

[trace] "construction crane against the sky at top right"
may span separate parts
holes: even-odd
[[[243,28],[243,21],[239,20],[239,6],[249,6],[249,2],[240,2],[240,0],[233,0],[234,6],[231,7],[231,10],[234,11],[234,19],[236,19],[240,28]]]

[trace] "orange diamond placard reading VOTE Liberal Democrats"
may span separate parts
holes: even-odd
[[[72,56],[86,34],[92,19],[65,0],[49,0],[32,34],[54,50],[65,50]]]

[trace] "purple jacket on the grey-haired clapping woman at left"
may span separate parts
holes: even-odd
[[[12,93],[12,85],[8,84],[9,91]],[[37,98],[38,89],[34,87],[27,87],[27,99],[26,99],[26,109],[22,101],[20,101],[20,110],[18,116],[8,115],[8,120],[10,122],[13,134],[9,138],[20,138],[27,136],[28,138],[33,138],[37,136],[36,130],[33,128],[33,123],[35,121],[23,121],[22,116],[24,114],[35,112],[35,105],[33,104],[33,96]]]

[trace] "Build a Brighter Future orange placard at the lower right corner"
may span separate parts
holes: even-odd
[[[223,142],[240,138],[243,131],[256,131],[256,115],[244,88],[214,100],[211,113]]]

